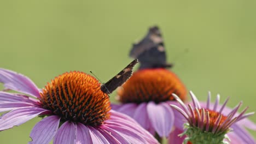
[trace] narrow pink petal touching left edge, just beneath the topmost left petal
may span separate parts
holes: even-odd
[[[26,102],[35,105],[38,104],[38,100],[27,97],[26,95],[0,92],[0,102]]]

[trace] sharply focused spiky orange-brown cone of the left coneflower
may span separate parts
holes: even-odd
[[[72,71],[51,80],[41,95],[44,109],[53,111],[61,121],[100,125],[109,119],[110,102],[91,75]]]

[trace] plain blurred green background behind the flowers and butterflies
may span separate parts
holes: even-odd
[[[238,0],[1,1],[0,67],[38,87],[70,70],[92,70],[106,82],[132,61],[131,44],[158,25],[172,70],[200,100],[211,91],[255,111],[255,7]],[[1,143],[27,143],[38,121],[1,131]]]

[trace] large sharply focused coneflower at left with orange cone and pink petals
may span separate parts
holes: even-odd
[[[92,76],[73,71],[55,77],[40,90],[28,77],[0,69],[0,131],[41,116],[30,143],[158,143],[133,119],[110,110],[108,97]],[[26,94],[26,95],[25,95]],[[30,96],[27,96],[30,95]]]

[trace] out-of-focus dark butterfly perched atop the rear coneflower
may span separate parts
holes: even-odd
[[[158,26],[150,27],[147,35],[133,44],[130,57],[138,59],[141,64],[139,69],[172,67],[172,64],[166,63],[164,41]]]

